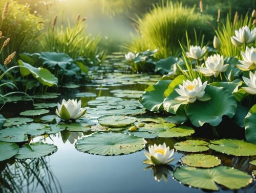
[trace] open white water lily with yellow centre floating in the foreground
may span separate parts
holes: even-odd
[[[169,147],[166,148],[166,144],[154,144],[154,146],[150,146],[148,151],[144,151],[145,156],[148,160],[144,161],[146,164],[150,165],[160,165],[167,164],[174,160],[171,158],[174,154],[174,149],[170,150]]]

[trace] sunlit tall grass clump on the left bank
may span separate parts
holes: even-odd
[[[56,18],[55,18],[56,19]],[[50,25],[46,34],[41,39],[42,51],[66,53],[71,58],[87,57],[94,58],[99,54],[98,43],[100,36],[91,37],[86,35],[86,20],[78,17],[72,26],[70,22],[65,27]]]

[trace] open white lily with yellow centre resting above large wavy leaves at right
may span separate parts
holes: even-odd
[[[179,84],[179,88],[176,88],[176,92],[180,96],[176,97],[175,100],[181,101],[184,104],[194,103],[197,99],[200,101],[210,100],[209,96],[205,94],[204,89],[207,86],[207,81],[202,84],[200,77],[194,79],[193,82],[187,80],[183,81],[183,85]]]

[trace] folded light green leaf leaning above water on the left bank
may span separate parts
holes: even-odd
[[[51,72],[48,69],[42,68],[42,67],[38,67],[38,68],[33,67],[30,64],[23,62],[22,60],[18,60],[18,64],[20,66],[27,67],[23,69],[25,70],[28,69],[30,73],[33,75],[33,77],[37,79],[42,85],[46,85],[46,86],[58,85],[58,79],[53,74],[51,74]],[[26,76],[28,75],[28,73],[23,73],[22,75]]]

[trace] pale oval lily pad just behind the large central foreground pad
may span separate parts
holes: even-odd
[[[98,122],[102,126],[123,127],[136,122],[136,117],[123,115],[101,116],[98,118]]]

